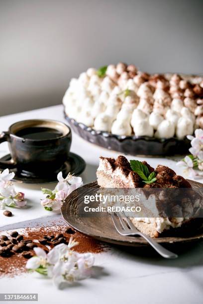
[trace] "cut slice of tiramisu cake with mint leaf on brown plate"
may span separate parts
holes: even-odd
[[[144,173],[144,175],[142,173]],[[117,159],[100,157],[97,178],[98,184],[102,188],[139,188],[139,190],[144,193],[151,188],[153,188],[151,190],[155,190],[155,188],[161,190],[160,188],[164,188],[162,191],[165,195],[164,200],[160,202],[160,191],[159,199],[157,200],[157,198],[155,198],[155,205],[158,209],[160,208],[160,210],[162,208],[161,205],[166,203],[166,196],[168,195],[168,189],[166,188],[174,188],[171,189],[174,198],[175,190],[180,192],[183,190],[182,193],[193,192],[193,194],[191,194],[192,199],[181,197],[182,207],[184,209],[184,211],[182,210],[181,217],[179,215],[178,217],[130,217],[130,220],[136,228],[151,237],[158,237],[163,231],[170,228],[185,226],[185,224],[192,221],[190,216],[187,216],[188,214],[192,214],[191,211],[188,212],[189,209],[192,208],[194,213],[195,208],[198,209],[200,207],[200,197],[194,194],[191,184],[184,177],[177,175],[172,169],[164,165],[158,165],[154,169],[146,161],[140,162],[138,160],[132,160],[128,162],[122,155],[118,156]],[[185,189],[181,190],[180,188]],[[169,201],[172,201],[172,199],[170,200],[169,198]],[[172,208],[174,208],[174,206]]]

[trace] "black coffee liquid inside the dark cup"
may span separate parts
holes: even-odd
[[[62,136],[63,133],[59,130],[45,127],[30,127],[19,130],[15,135],[24,139],[46,140]]]

